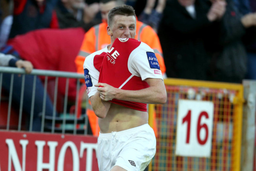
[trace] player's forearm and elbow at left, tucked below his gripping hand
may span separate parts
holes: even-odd
[[[107,116],[111,103],[101,100],[99,92],[97,92],[94,96],[91,96],[90,100],[95,115],[99,118],[105,118]]]

